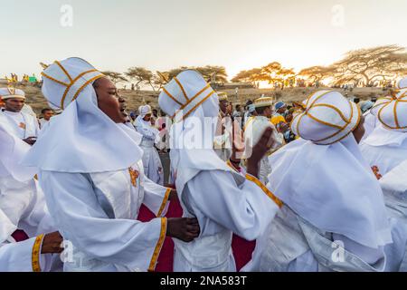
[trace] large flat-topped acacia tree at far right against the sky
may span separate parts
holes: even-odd
[[[406,68],[405,48],[398,45],[383,45],[350,51],[345,58],[333,64],[336,84],[393,79],[397,72]]]

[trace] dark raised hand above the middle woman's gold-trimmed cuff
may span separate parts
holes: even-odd
[[[271,138],[274,129],[267,128],[261,136],[259,142],[254,145],[251,157],[247,160],[247,173],[254,177],[259,176],[259,164],[260,160],[266,155],[266,153],[272,148],[275,140]]]

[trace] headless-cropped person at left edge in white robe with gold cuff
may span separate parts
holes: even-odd
[[[62,269],[61,235],[45,206],[35,168],[20,166],[30,145],[0,126],[0,272]]]

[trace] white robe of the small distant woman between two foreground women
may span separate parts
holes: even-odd
[[[158,131],[153,126],[148,126],[147,124],[140,124],[140,122],[146,121],[136,121],[136,130],[138,133],[143,135],[143,140],[141,140],[140,147],[144,151],[143,154],[143,164],[144,172],[146,173],[148,179],[153,180],[157,184],[164,184],[164,169],[161,163],[160,157],[154,144],[157,140]]]

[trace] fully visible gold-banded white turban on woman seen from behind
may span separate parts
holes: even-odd
[[[354,102],[341,93],[319,91],[312,94],[291,124],[292,131],[305,140],[319,145],[343,140],[355,130],[361,119],[361,111]]]

